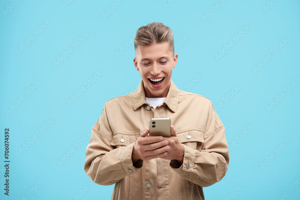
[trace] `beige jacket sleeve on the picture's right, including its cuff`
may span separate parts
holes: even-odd
[[[171,168],[180,176],[201,187],[210,186],[225,176],[229,164],[229,149],[225,138],[225,128],[211,102],[204,142],[198,142],[196,149],[184,144],[183,146],[183,164],[180,166],[177,160],[170,161]]]

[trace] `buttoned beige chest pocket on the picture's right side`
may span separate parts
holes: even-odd
[[[199,151],[201,150],[202,143],[204,142],[204,133],[200,130],[188,130],[177,133],[177,137],[180,143],[196,149],[197,145]]]

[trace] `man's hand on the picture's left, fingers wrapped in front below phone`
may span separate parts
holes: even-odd
[[[149,128],[144,129],[141,135],[137,138],[137,142],[133,146],[131,160],[136,163],[138,160],[151,160],[154,158],[166,156],[169,149],[168,141],[163,140],[162,136],[148,136]]]

